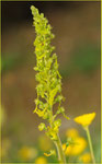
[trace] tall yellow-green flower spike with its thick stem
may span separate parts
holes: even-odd
[[[54,34],[52,33],[52,26],[48,24],[43,13],[38,13],[35,7],[31,7],[33,14],[33,25],[35,26],[36,38],[34,42],[36,67],[34,70],[36,73],[36,92],[37,98],[35,99],[35,110],[38,117],[46,119],[49,126],[41,124],[39,130],[45,130],[46,134],[55,142],[58,149],[58,159],[65,163],[65,155],[59,140],[59,127],[61,125],[60,119],[56,119],[58,114],[65,115],[65,109],[61,107],[64,96],[61,94],[61,75],[58,71],[57,55],[54,51],[55,47],[50,45]],[[58,104],[58,109],[54,115],[54,105]]]

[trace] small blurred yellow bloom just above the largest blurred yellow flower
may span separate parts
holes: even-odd
[[[66,136],[69,138],[76,138],[76,137],[78,137],[79,136],[79,132],[78,132],[78,130],[77,129],[75,129],[75,128],[71,128],[71,129],[68,129],[67,131],[66,131]]]

